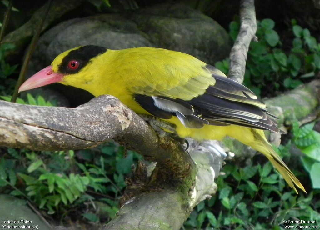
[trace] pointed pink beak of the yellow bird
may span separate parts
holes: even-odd
[[[52,71],[52,66],[45,67],[38,73],[30,77],[25,81],[19,88],[18,92],[31,90],[44,85],[48,85],[55,82],[62,82],[63,74],[54,73]]]

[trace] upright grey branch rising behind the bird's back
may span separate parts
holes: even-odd
[[[240,21],[240,31],[230,52],[230,70],[228,77],[242,83],[249,45],[252,39],[257,39],[255,36],[257,21],[254,0],[241,0]]]

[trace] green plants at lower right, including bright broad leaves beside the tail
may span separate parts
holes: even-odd
[[[196,207],[185,223],[185,229],[285,229],[284,220],[316,220],[319,223],[320,133],[313,130],[314,125],[315,122],[299,127],[299,123],[294,122],[292,139],[275,149],[286,162],[292,157],[293,147],[298,147],[304,154],[301,163],[305,171],[296,167],[294,174],[303,178],[301,181],[307,194],[297,195],[287,188],[270,162],[257,163],[258,155],[245,167],[228,163],[222,169],[225,174],[217,179],[218,193]],[[289,226],[314,226],[298,225]]]

